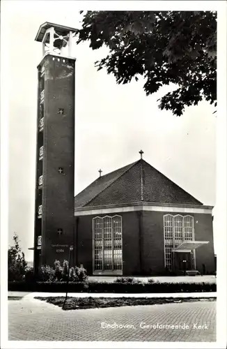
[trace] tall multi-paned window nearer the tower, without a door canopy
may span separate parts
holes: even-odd
[[[93,218],[94,272],[122,271],[122,218]]]

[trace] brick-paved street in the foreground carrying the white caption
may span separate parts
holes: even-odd
[[[104,324],[133,328],[102,328]],[[141,329],[180,325],[189,329]],[[208,329],[193,328],[194,324]],[[9,341],[216,341],[216,302],[63,311],[38,299],[8,301]]]

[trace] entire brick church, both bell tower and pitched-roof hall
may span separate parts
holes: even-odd
[[[55,260],[89,275],[214,272],[212,207],[143,160],[102,174],[75,198],[77,29],[45,22],[38,64],[34,271]],[[72,255],[70,253],[72,251]]]

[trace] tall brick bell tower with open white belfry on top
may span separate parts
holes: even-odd
[[[75,61],[77,30],[46,22],[38,65],[34,270],[68,260],[74,245]]]

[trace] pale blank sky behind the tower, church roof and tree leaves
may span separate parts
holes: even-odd
[[[75,1],[4,1],[8,13],[9,169],[8,243],[19,235],[27,260],[33,259],[36,179],[37,66],[42,45],[34,40],[40,24],[54,22],[79,27]],[[82,8],[83,9],[83,8]],[[6,30],[5,29],[5,30]],[[98,176],[143,158],[204,205],[215,205],[216,129],[214,106],[203,101],[185,108],[182,117],[159,110],[143,80],[116,84],[94,62],[107,49],[92,51],[88,43],[75,45],[75,194]],[[215,208],[214,208],[215,212]],[[215,214],[214,214],[215,221]],[[215,248],[214,229],[214,248]]]

